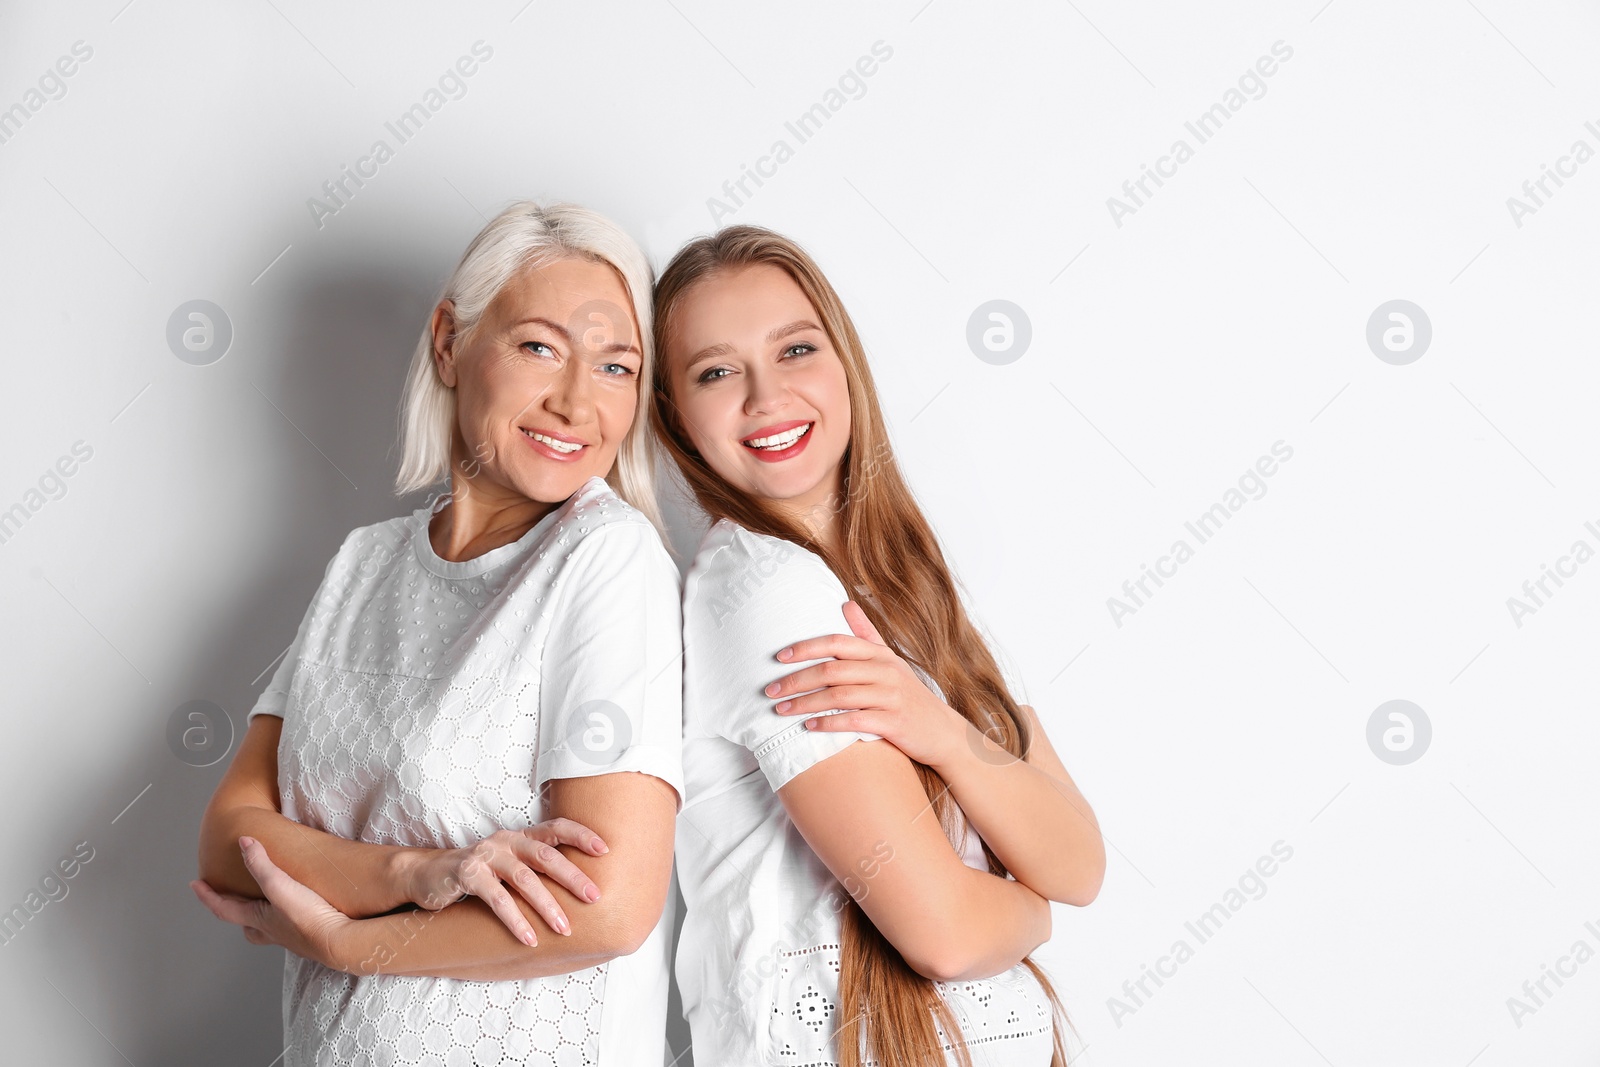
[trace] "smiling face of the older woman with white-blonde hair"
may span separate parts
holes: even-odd
[[[440,336],[435,320],[435,338]],[[456,472],[475,488],[560,502],[605,477],[634,424],[643,354],[606,264],[563,259],[512,278],[464,341],[435,341],[456,390]]]

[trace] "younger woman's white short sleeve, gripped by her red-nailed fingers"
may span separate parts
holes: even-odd
[[[696,733],[749,749],[773,792],[854,741],[880,739],[858,729],[810,731],[810,715],[779,715],[765,693],[773,681],[822,662],[782,662],[778,649],[850,633],[843,611],[850,595],[822,560],[786,541],[738,530],[690,581],[685,701]]]

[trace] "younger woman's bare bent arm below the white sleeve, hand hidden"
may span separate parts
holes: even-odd
[[[874,731],[875,733],[875,731]],[[1050,902],[962,862],[910,760],[859,741],[778,797],[811,849],[925,977],[990,977],[1050,939]]]

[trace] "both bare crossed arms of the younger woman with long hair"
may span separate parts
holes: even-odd
[[[845,886],[877,843],[891,862],[854,893],[912,969],[934,979],[998,974],[1050,937],[1050,901],[1086,905],[1106,875],[1099,822],[1056,757],[1032,707],[1019,760],[933,696],[885,645],[859,606],[851,635],[810,638],[778,659],[824,659],[766,688],[774,710],[806,728],[866,731],[778,790],[795,827]],[[789,697],[789,699],[782,699]],[[944,779],[1011,878],[968,867],[939,829],[910,760]],[[1019,817],[1018,813],[1027,813]],[[901,862],[904,859],[904,862]],[[862,896],[864,894],[864,896]]]

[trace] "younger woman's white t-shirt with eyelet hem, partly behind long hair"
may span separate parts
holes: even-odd
[[[838,1062],[838,917],[850,897],[776,790],[854,741],[878,736],[813,733],[803,718],[776,713],[762,689],[821,662],[779,662],[779,648],[850,633],[842,611],[848,598],[821,557],[730,520],[706,531],[685,579],[688,793],[677,865],[688,913],[675,968],[696,1062]],[[976,830],[965,816],[960,822],[963,859],[987,870]],[[934,987],[962,1021],[974,1064],[1050,1064],[1050,1001],[1024,965]]]

